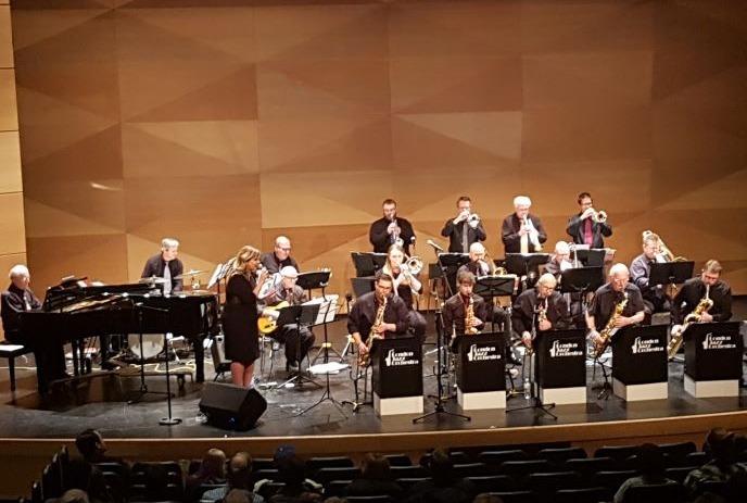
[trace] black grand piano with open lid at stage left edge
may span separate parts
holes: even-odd
[[[161,294],[152,284],[98,285],[66,278],[47,290],[40,310],[21,313],[21,330],[33,348],[73,345],[75,375],[84,365],[83,345],[89,337],[127,334],[183,336],[194,347],[195,379],[205,379],[203,340],[218,330],[218,302],[212,293]],[[102,343],[102,361],[106,343]],[[45,368],[37,368],[39,389],[47,388]]]

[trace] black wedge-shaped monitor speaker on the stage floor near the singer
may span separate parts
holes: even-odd
[[[248,430],[267,410],[267,401],[255,389],[220,382],[205,382],[200,399],[200,412],[207,423],[221,429]]]

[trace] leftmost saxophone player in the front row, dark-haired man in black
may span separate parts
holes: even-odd
[[[393,297],[394,280],[379,272],[371,292],[358,297],[347,316],[347,331],[353,337],[359,354],[368,353],[366,341],[369,335],[382,338],[404,337],[407,331],[407,306],[400,297]],[[375,325],[377,314],[383,306],[383,323]]]

